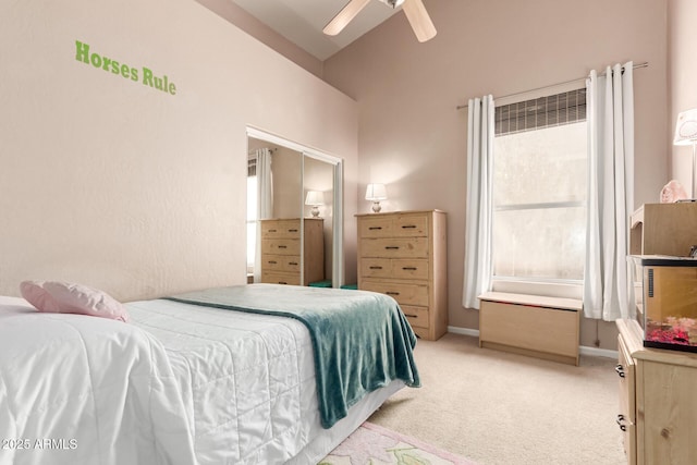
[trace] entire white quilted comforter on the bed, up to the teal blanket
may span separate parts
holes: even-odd
[[[321,430],[306,328],[170,301],[0,297],[0,464],[281,464]]]

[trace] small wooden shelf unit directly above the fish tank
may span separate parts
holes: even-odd
[[[687,257],[697,245],[697,201],[645,204],[629,225],[631,255]]]

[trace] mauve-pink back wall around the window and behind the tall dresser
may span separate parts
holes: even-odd
[[[418,44],[398,14],[327,60],[325,79],[358,101],[358,210],[369,209],[360,196],[365,184],[383,182],[388,211],[449,213],[450,325],[476,329],[477,311],[461,305],[467,112],[455,107],[485,94],[584,77],[615,62],[648,61],[635,72],[635,203],[658,201],[669,166],[667,0],[425,4],[435,39]],[[613,323],[582,327],[583,345],[598,338],[601,347],[614,348],[615,335]]]

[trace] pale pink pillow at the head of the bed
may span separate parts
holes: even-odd
[[[35,286],[38,286],[44,294]],[[26,296],[24,297],[40,311],[80,314],[129,321],[125,307],[109,294],[97,289],[61,281],[25,281],[20,287],[23,296],[24,287],[30,289],[36,295],[44,296],[42,301],[37,301],[40,306]],[[34,295],[32,296],[34,297]]]

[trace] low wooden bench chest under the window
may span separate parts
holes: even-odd
[[[578,366],[582,301],[487,292],[479,346]]]

